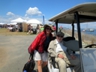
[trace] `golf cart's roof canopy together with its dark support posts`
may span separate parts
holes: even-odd
[[[74,23],[77,23],[79,48],[82,48],[80,23],[96,21],[96,2],[79,4],[57,14],[49,21],[55,22],[56,32],[58,31],[58,23],[72,24],[72,37],[74,37]]]

